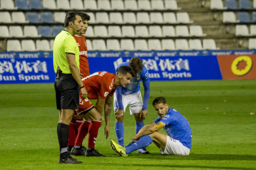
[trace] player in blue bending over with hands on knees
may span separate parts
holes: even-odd
[[[146,118],[148,111],[148,99],[150,97],[150,78],[148,77],[148,70],[142,64],[142,60],[137,57],[130,59],[129,62],[121,63],[117,68],[124,65],[130,65],[137,76],[133,77],[126,87],[116,87],[116,92],[114,93],[114,111],[116,117],[116,123],[114,124],[114,129],[116,132],[116,138],[118,144],[124,146],[124,112],[126,107],[129,105],[130,115],[134,115],[136,125],[135,132],[140,131],[144,126],[144,119]],[[142,80],[144,86],[144,102],[142,100],[142,95],[140,94],[140,81]],[[137,153],[148,154],[149,152],[145,148],[140,148]]]

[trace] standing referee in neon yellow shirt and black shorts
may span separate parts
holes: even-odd
[[[79,89],[82,97],[87,97],[79,71],[79,47],[74,39],[82,29],[82,18],[76,10],[69,11],[64,21],[64,30],[59,33],[53,45],[53,65],[56,73],[56,92],[59,122],[57,127],[60,157],[59,163],[79,164],[81,161],[67,154],[69,124],[75,109],[79,108]]]

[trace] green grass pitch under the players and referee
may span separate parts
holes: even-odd
[[[105,139],[104,123],[96,141],[96,149],[106,158],[77,156],[83,164],[58,164],[54,85],[1,85],[0,169],[256,169],[256,115],[250,115],[256,112],[256,80],[151,82],[145,124],[157,117],[151,103],[160,96],[190,123],[189,156],[161,155],[151,144],[150,155],[133,152],[117,157],[109,146],[111,139],[116,141],[112,111],[109,138]],[[129,109],[124,129],[125,144],[129,144],[135,134]]]

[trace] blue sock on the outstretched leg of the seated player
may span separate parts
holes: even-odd
[[[129,145],[126,146],[126,154],[130,152],[134,152],[135,150],[138,150],[139,148],[148,147],[153,140],[149,135],[140,137],[140,140],[137,142],[131,142]],[[133,144],[132,144],[133,143]]]

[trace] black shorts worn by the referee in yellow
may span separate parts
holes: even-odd
[[[54,88],[58,110],[79,108],[79,84],[72,74],[60,73],[59,78],[55,78]]]

